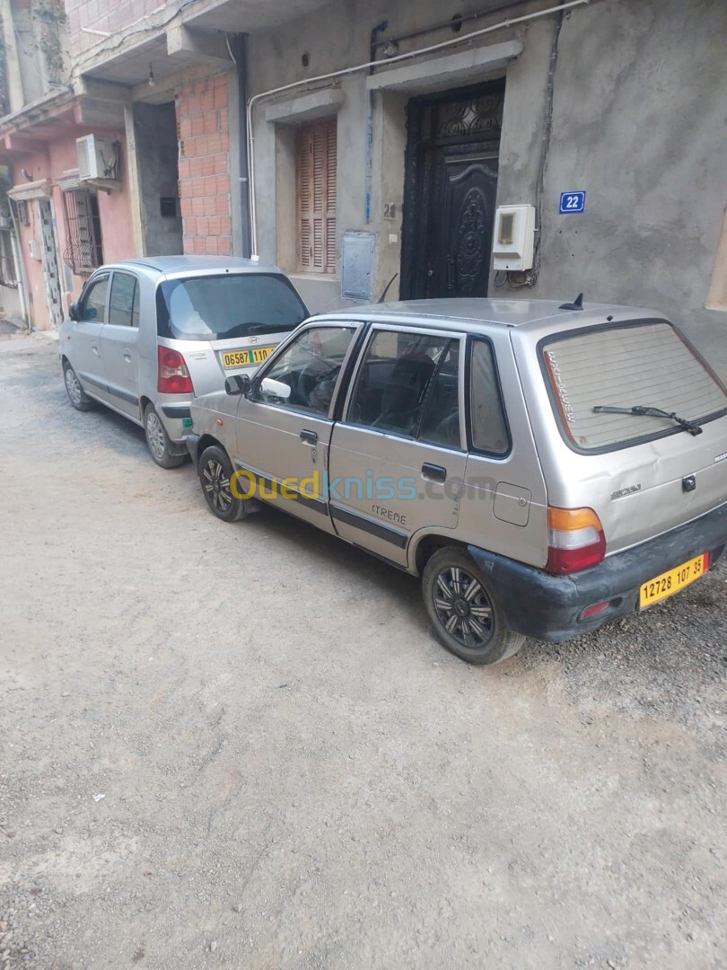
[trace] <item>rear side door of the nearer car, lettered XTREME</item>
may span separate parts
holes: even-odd
[[[466,465],[462,336],[372,328],[333,429],[335,531],[400,566],[412,538],[454,531]]]

